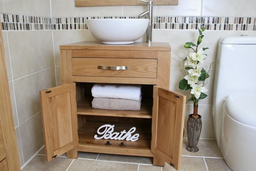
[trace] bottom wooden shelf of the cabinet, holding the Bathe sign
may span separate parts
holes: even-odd
[[[111,124],[115,125],[114,132],[120,132],[122,130],[128,131],[133,126],[136,127],[136,131],[133,134],[140,134],[137,141],[126,141],[126,140],[111,140],[111,139],[94,139],[94,135],[97,134],[97,130],[101,125]],[[79,151],[98,152],[100,149],[101,153],[115,153],[115,154],[126,154],[126,155],[139,155],[152,157],[150,151],[151,147],[151,127],[141,126],[131,123],[107,123],[98,121],[86,122],[78,131],[79,137]],[[105,145],[107,141],[110,141],[112,145]],[[124,142],[125,147],[118,146],[121,142]],[[129,149],[129,150],[128,150]]]

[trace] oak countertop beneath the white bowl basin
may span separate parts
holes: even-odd
[[[61,50],[152,50],[152,51],[170,51],[171,47],[169,43],[145,43],[135,42],[129,45],[106,45],[101,42],[77,42],[68,45],[59,46]]]

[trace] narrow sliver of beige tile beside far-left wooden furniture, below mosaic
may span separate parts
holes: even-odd
[[[12,80],[12,73],[11,73],[11,62],[10,62],[9,47],[8,47],[8,40],[7,40],[7,31],[2,31],[2,35],[3,35],[3,42],[4,42],[4,55],[5,55],[7,77],[8,77],[8,81],[10,81]]]

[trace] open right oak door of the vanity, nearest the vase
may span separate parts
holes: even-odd
[[[154,86],[153,98],[151,151],[178,170],[186,96]]]

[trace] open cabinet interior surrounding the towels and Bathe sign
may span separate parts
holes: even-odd
[[[149,149],[151,144],[151,125],[152,125],[152,103],[153,85],[141,86],[141,110],[105,110],[93,109],[91,101],[91,88],[93,83],[76,83],[77,90],[77,119],[79,144],[95,146],[120,147],[124,142],[126,148]],[[132,127],[136,127],[133,134],[140,134],[137,141],[94,139],[100,126],[110,124],[115,125],[114,132],[126,132]]]

